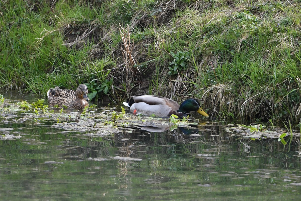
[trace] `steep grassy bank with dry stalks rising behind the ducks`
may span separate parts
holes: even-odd
[[[193,96],[217,118],[300,120],[298,1],[0,4],[2,88],[87,83],[96,99]]]

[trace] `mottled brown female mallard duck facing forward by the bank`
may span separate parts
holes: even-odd
[[[60,89],[56,86],[54,89],[49,89],[47,92],[48,103],[50,106],[63,105],[68,108],[82,109],[89,105],[88,89],[84,84],[80,84],[76,91],[70,89]]]

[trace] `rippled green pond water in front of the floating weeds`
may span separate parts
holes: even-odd
[[[80,126],[64,129],[50,120],[12,121],[26,113],[13,115],[0,116],[2,135],[20,135],[0,140],[0,200],[301,197],[298,139],[283,151],[275,138],[243,138],[227,132],[233,124],[199,115],[194,116],[203,120],[200,125],[188,128],[152,132],[133,126],[106,136]]]

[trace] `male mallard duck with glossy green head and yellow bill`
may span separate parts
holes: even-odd
[[[129,103],[123,102],[124,105],[130,107],[130,111],[134,114],[152,115],[167,117],[172,114],[178,117],[189,115],[190,111],[197,111],[204,117],[209,117],[200,107],[200,103],[196,99],[187,99],[179,105],[172,99],[162,96],[137,95],[132,97]]]

